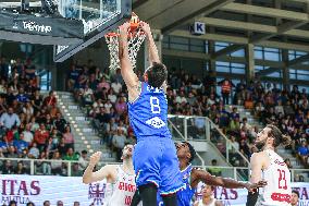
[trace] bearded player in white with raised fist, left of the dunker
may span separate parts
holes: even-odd
[[[99,162],[101,152],[91,155],[88,167],[83,175],[83,183],[89,184],[107,180],[107,206],[129,206],[136,191],[135,174],[132,162],[133,145],[123,148],[122,165],[107,165],[92,172]]]

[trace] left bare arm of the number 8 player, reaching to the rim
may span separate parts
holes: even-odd
[[[134,73],[132,63],[128,58],[127,31],[129,28],[129,23],[126,22],[119,28],[119,59],[121,66],[121,75],[129,90],[131,88],[136,88],[138,86],[138,77]]]

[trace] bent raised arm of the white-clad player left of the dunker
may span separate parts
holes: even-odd
[[[101,153],[97,152],[90,157],[88,167],[86,168],[83,175],[83,183],[89,184],[92,182],[98,182],[103,179],[110,179],[114,173],[114,166],[104,166],[99,171],[94,172],[96,165],[99,162]]]

